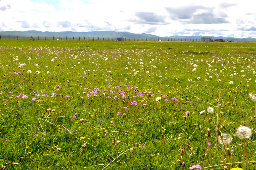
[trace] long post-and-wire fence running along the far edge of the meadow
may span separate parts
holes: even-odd
[[[104,38],[104,37],[54,37],[54,36],[14,36],[14,35],[0,35],[0,40],[1,39],[30,39],[30,40],[78,40],[78,41],[82,41],[82,40],[87,40],[87,41],[176,41],[176,42],[212,42],[212,41],[201,41],[200,39],[188,39],[188,38],[184,38],[184,39],[179,39],[179,38],[123,38],[123,37],[118,37],[118,38],[113,38],[113,37],[107,37],[107,38]],[[233,40],[228,40],[229,42],[233,42]],[[241,41],[239,41],[241,42]],[[246,42],[246,41],[244,41]]]

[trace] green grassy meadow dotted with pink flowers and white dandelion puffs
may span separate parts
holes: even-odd
[[[0,169],[255,169],[255,45],[0,40]]]

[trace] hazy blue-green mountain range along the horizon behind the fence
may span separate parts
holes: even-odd
[[[37,39],[38,37],[40,39],[42,38],[45,38],[47,37],[47,39],[52,39],[53,37],[54,38],[59,38],[61,37],[61,39],[66,39],[66,36],[68,39],[72,39],[74,37],[74,39],[78,39],[79,37],[81,39],[88,39],[88,37],[90,37],[90,39],[93,39],[93,37],[95,39],[112,39],[112,38],[115,38],[115,37],[123,37],[123,38],[126,38],[126,39],[150,39],[152,38],[153,39],[169,39],[169,40],[196,40],[196,39],[201,39],[201,37],[212,37],[212,40],[215,40],[215,39],[223,39],[223,40],[233,40],[233,41],[256,41],[256,38],[234,38],[234,37],[213,37],[213,36],[207,36],[207,35],[199,35],[199,36],[170,36],[170,37],[159,37],[159,36],[156,36],[156,35],[152,35],[152,34],[145,34],[145,33],[142,33],[142,34],[133,34],[133,33],[130,33],[130,32],[115,32],[115,31],[89,31],[89,32],[72,32],[72,31],[63,31],[63,32],[49,32],[49,31],[45,31],[45,32],[42,32],[42,31],[35,31],[35,30],[31,30],[31,31],[0,31],[0,35],[1,35],[1,38],[3,39],[7,39],[9,38],[10,36],[10,39],[16,39],[17,36],[19,39],[22,39],[23,37],[25,37],[26,39],[27,38],[30,38],[30,36],[32,36],[33,38]]]

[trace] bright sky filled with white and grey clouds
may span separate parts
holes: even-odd
[[[256,38],[256,1],[0,0],[0,31]]]

